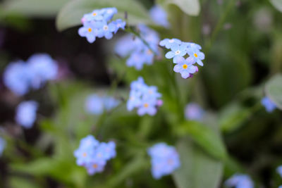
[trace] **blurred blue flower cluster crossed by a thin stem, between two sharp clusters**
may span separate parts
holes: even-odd
[[[121,37],[115,51],[118,56],[129,56],[126,65],[141,70],[144,64],[152,65],[154,55],[159,54],[159,35],[145,25],[138,25],[137,30],[140,31],[140,38],[133,35]]]

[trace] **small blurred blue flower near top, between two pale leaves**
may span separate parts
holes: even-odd
[[[164,27],[169,27],[168,19],[167,19],[167,13],[164,11],[164,8],[161,6],[153,6],[149,11],[150,17],[154,21],[154,23],[157,23],[157,25],[161,25]]]

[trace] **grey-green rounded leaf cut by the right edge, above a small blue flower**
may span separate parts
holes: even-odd
[[[282,110],[282,75],[275,75],[266,83],[266,96],[268,96],[277,108]]]

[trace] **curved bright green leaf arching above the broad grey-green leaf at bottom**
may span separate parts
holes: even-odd
[[[179,135],[189,135],[194,142],[202,146],[210,155],[221,160],[225,160],[227,153],[225,146],[219,134],[212,130],[212,127],[207,127],[196,121],[188,121],[180,125],[178,129]]]

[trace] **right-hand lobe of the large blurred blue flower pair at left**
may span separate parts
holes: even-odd
[[[48,54],[35,54],[27,60],[28,70],[31,72],[30,84],[39,89],[48,80],[55,80],[58,65]]]

